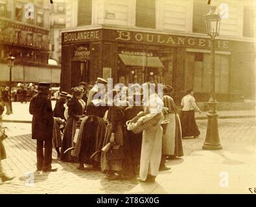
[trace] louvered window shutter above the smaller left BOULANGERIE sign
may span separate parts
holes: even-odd
[[[92,0],[78,0],[77,26],[91,25]]]

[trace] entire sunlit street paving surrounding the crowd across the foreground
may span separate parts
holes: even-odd
[[[255,118],[220,119],[218,131],[223,149],[203,151],[207,122],[198,120],[198,138],[183,140],[184,156],[167,161],[169,171],[159,172],[156,183],[137,180],[112,180],[100,171],[80,171],[78,164],[56,160],[54,173],[36,173],[36,141],[31,139],[30,124],[5,123],[9,130],[2,164],[6,175],[16,176],[1,183],[1,193],[250,193],[256,186]],[[222,173],[222,174],[221,174]],[[222,177],[220,177],[222,175]],[[220,180],[227,178],[228,187]],[[228,176],[228,177],[227,177]],[[33,181],[33,186],[27,181]]]

